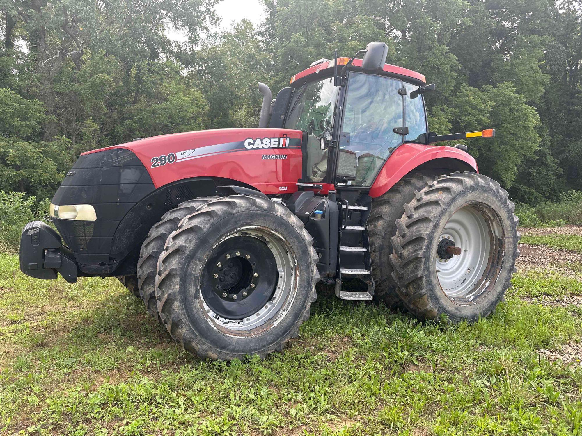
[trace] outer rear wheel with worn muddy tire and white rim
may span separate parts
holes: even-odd
[[[516,271],[514,209],[507,191],[481,174],[453,173],[415,192],[396,221],[390,256],[406,308],[455,323],[489,315]]]

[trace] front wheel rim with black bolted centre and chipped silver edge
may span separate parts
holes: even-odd
[[[249,330],[288,310],[284,305],[296,287],[293,265],[287,242],[270,229],[225,235],[201,274],[200,296],[209,321],[228,330]]]

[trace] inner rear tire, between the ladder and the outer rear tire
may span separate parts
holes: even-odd
[[[396,282],[392,278],[391,237],[396,234],[396,220],[402,217],[404,205],[414,198],[414,191],[422,190],[427,182],[436,180],[437,173],[424,171],[410,173],[398,181],[388,192],[372,200],[368,217],[368,238],[370,257],[374,274],[374,296],[391,309],[403,309],[396,292]]]

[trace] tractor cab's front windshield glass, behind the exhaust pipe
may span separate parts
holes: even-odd
[[[320,138],[332,138],[335,105],[339,87],[333,77],[303,85],[295,97],[285,121],[285,128],[307,132],[307,182],[320,182],[327,174],[328,150],[320,149]]]

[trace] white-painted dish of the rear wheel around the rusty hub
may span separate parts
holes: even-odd
[[[450,259],[442,259],[438,253],[435,256],[439,284],[453,301],[471,303],[487,287],[478,284],[490,263],[492,234],[498,232],[484,212],[475,205],[457,209],[439,235],[438,243],[449,240],[462,250]]]

